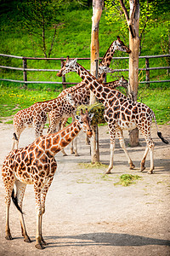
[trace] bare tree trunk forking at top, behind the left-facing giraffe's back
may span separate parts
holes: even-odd
[[[134,2],[136,2],[136,9],[134,11]],[[139,86],[139,1],[130,0],[130,16],[133,19],[129,22],[129,48],[131,53],[129,55],[129,88],[128,94],[135,102],[138,96]],[[132,147],[139,145],[139,131],[138,128],[129,132],[130,145]]]

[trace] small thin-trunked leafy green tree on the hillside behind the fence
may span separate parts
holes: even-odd
[[[22,29],[30,34],[32,44],[38,45],[46,58],[51,55],[57,28],[62,26],[62,23],[59,23],[62,4],[62,0],[29,0],[19,7],[24,17]]]

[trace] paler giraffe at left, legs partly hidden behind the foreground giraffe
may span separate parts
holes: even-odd
[[[59,113],[65,114],[65,110],[72,112],[71,108],[75,108],[75,103],[71,93],[66,96],[59,96],[53,100],[46,102],[36,102],[31,107],[21,109],[14,115],[14,138],[12,149],[16,145],[18,148],[20,134],[26,129],[26,126],[33,126],[35,137],[42,136],[42,130],[47,121],[47,113],[57,108]]]

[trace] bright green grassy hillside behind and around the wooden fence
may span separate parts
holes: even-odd
[[[11,8],[12,9],[12,8]],[[14,13],[16,11],[16,13]],[[166,35],[164,26],[165,16],[162,14],[153,22],[150,32],[145,34],[145,41],[142,48],[142,55],[162,55],[164,52],[162,35]],[[103,11],[99,23],[99,55],[105,55],[113,40],[118,34],[118,25],[108,26],[105,20],[106,12]],[[37,48],[37,44],[33,44],[33,39],[21,29],[22,19],[17,10],[13,12],[3,13],[0,17],[0,53],[8,55],[34,56],[43,57],[42,51]],[[90,41],[91,41],[91,8],[71,8],[65,10],[64,18],[60,20],[57,27],[57,37],[54,41],[54,48],[51,57],[89,57],[90,56]],[[51,34],[50,34],[51,33]],[[49,35],[52,37],[52,32],[49,30]],[[123,40],[123,38],[122,38]],[[124,41],[124,40],[123,40]],[[128,45],[128,42],[125,42]],[[126,53],[116,52],[114,56],[127,56]],[[89,61],[79,61],[85,68],[89,69]],[[22,67],[22,61],[19,59],[11,59],[8,57],[0,57],[0,65],[11,67]],[[144,60],[139,62],[139,67],[144,67]],[[150,67],[168,66],[166,59],[150,60]],[[60,61],[27,61],[27,67],[30,68],[60,68]],[[112,68],[127,68],[128,62],[112,61]],[[117,79],[121,73],[115,73],[113,77],[108,76],[108,81]],[[127,73],[123,73],[127,77]],[[1,69],[0,78],[4,79],[23,79],[23,73],[20,71]],[[140,80],[145,79],[145,73],[141,72]],[[169,79],[167,70],[151,71],[150,79]],[[41,81],[61,81],[56,77],[56,73],[51,72],[28,72],[28,80]],[[76,73],[66,75],[66,81],[79,82],[81,79]],[[61,86],[59,84],[29,84],[28,90],[23,89],[23,84],[9,83],[0,81],[0,103],[1,116],[6,116],[16,113],[20,108],[26,108],[33,102],[50,99],[58,95]],[[33,91],[31,91],[33,90]],[[37,90],[37,92],[35,92]],[[156,101],[156,96],[159,95],[159,101]],[[169,117],[169,83],[150,84],[150,88],[145,85],[139,85],[139,101],[146,103],[154,111],[160,113],[160,123],[167,123]],[[167,101],[165,101],[165,97]],[[8,101],[8,99],[11,99]],[[9,102],[9,103],[8,103]],[[7,111],[8,105],[8,111]],[[15,108],[17,106],[17,108]],[[165,117],[165,118],[164,118]]]

